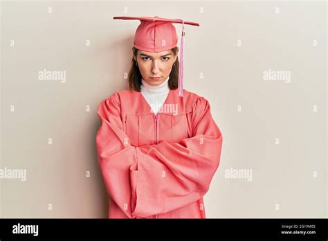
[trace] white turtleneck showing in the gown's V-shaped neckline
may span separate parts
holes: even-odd
[[[148,84],[143,78],[141,78],[141,93],[150,107],[152,107],[152,111],[154,111],[155,114],[161,109],[170,91],[169,78],[170,76],[159,85]]]

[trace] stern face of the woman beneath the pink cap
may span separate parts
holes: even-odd
[[[132,51],[134,51],[134,48],[132,48]],[[138,51],[138,55],[134,57],[134,60],[138,63],[139,71],[145,82],[159,85],[169,77],[176,57],[178,57],[177,53],[174,56],[171,50],[158,53]]]

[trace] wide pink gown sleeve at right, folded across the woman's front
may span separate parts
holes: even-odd
[[[208,100],[199,97],[192,111],[192,137],[179,143],[161,141],[136,147],[137,172],[132,187],[132,215],[166,213],[205,195],[219,167],[222,134],[210,114]]]

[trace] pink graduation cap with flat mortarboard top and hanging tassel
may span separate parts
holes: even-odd
[[[165,19],[163,17],[113,17],[113,19],[140,20],[140,25],[134,35],[134,46],[142,51],[151,53],[166,51],[176,47],[178,36],[176,29],[172,25],[182,24],[180,66],[179,66],[179,96],[183,96],[183,46],[185,43],[185,26],[189,24],[199,26],[192,21],[182,19]]]

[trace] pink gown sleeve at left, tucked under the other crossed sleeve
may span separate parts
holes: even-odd
[[[114,97],[115,94],[102,100],[98,107],[101,121],[95,138],[98,165],[107,193],[125,215],[132,218],[130,167],[136,165],[136,149],[122,130],[120,104]]]

